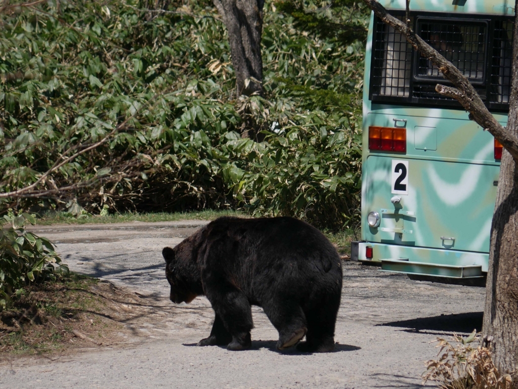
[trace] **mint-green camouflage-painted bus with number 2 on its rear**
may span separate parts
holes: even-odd
[[[405,0],[381,0],[404,20]],[[514,8],[501,0],[412,0],[413,30],[507,123]],[[362,229],[351,257],[411,279],[485,285],[501,145],[440,70],[371,15],[363,97]]]

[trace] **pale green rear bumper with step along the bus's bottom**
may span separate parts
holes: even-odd
[[[367,248],[372,248],[372,258],[366,257]],[[352,242],[351,259],[376,263],[383,271],[406,273],[414,276],[411,278],[467,279],[485,278],[489,254],[359,241]]]

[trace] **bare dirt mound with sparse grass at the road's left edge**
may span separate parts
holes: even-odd
[[[34,285],[30,292],[0,312],[0,355],[63,353],[117,343],[116,334],[127,320],[120,307],[138,304],[138,297],[77,273]]]

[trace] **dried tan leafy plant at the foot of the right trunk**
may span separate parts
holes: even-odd
[[[455,334],[452,340],[437,338],[438,359],[426,362],[423,384],[430,380],[437,381],[441,389],[511,388],[511,376],[498,371],[477,330],[467,338]]]

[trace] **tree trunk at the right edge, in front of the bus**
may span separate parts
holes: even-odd
[[[518,5],[518,0],[516,0]],[[516,9],[516,8],[515,8]],[[514,17],[513,76],[507,131],[518,136],[518,12]],[[491,336],[494,363],[518,387],[518,167],[504,151],[498,179],[482,332]]]

